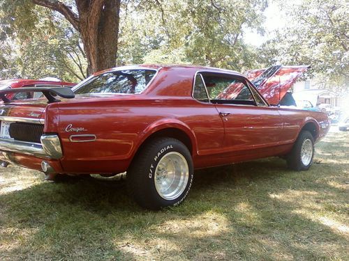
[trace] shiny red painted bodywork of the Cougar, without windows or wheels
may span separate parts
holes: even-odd
[[[126,171],[144,142],[158,135],[183,141],[191,151],[195,168],[204,168],[285,155],[308,125],[316,130],[316,141],[328,131],[328,127],[320,128],[320,122],[328,122],[325,113],[211,104],[192,97],[195,73],[243,77],[237,72],[189,65],[139,66],[158,70],[141,94],[77,95],[52,104],[45,99],[23,100],[6,105],[11,108],[8,116],[34,118],[29,113],[40,112],[38,118],[45,119],[44,132],[58,134],[63,148],[64,156],[50,162],[58,173],[77,174]],[[220,116],[219,112],[226,111],[230,115]],[[96,141],[73,142],[70,136],[74,134],[95,135]],[[20,166],[37,170],[43,160],[17,154],[13,157]]]

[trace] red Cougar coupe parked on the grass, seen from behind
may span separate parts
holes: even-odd
[[[282,98],[282,84],[269,99]],[[28,91],[45,98],[6,97]],[[329,129],[325,113],[270,106],[243,74],[189,65],[112,68],[73,89],[1,90],[0,99],[2,166],[50,175],[127,171],[133,198],[149,209],[181,203],[195,168],[281,156],[306,170]]]

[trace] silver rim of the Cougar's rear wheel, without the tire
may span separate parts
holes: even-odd
[[[183,155],[169,152],[158,162],[155,170],[155,188],[161,198],[174,200],[181,196],[188,184],[189,168]]]

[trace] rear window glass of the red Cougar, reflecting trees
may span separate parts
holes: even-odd
[[[142,93],[149,81],[156,74],[156,70],[121,70],[105,72],[82,82],[73,91],[75,94]]]

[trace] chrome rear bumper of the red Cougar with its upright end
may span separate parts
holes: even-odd
[[[0,150],[50,159],[59,159],[63,155],[57,135],[43,135],[41,143],[0,139]]]

